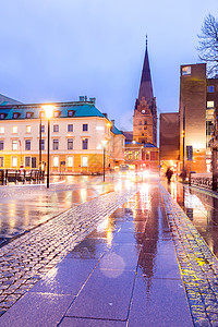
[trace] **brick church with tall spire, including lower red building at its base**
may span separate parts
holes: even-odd
[[[159,165],[157,107],[153,94],[147,41],[140,92],[134,108],[133,132],[123,132],[123,134],[125,135],[125,164],[137,170],[146,168],[157,171]]]

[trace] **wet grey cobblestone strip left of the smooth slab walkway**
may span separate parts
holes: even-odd
[[[112,192],[86,202],[4,245],[0,250],[0,313],[13,305],[134,192]]]

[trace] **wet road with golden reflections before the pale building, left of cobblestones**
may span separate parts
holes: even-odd
[[[114,191],[109,178],[105,184],[101,177],[64,179],[65,182],[59,177],[51,178],[49,190],[45,184],[0,187],[0,246],[73,206]]]

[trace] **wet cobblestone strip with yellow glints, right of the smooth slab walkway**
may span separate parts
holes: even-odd
[[[218,261],[164,187],[162,197],[194,325],[218,326]]]

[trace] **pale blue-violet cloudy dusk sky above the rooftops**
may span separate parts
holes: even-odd
[[[132,129],[148,36],[158,113],[178,111],[180,65],[199,62],[204,17],[217,0],[1,0],[0,94],[22,102],[96,97]]]

